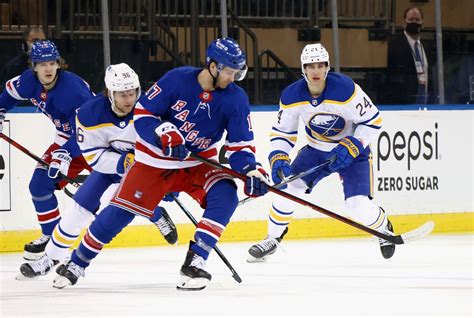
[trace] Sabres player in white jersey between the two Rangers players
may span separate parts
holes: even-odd
[[[133,164],[133,109],[141,94],[138,75],[125,63],[110,65],[105,71],[105,86],[104,94],[87,101],[76,116],[77,142],[93,171],[74,195],[71,211],[54,228],[45,255],[21,265],[24,277],[46,275],[69,257],[69,248],[94,219],[101,199],[106,201],[104,192],[111,186],[116,189]],[[176,227],[164,208],[157,207],[150,220],[168,243],[176,243]]]

